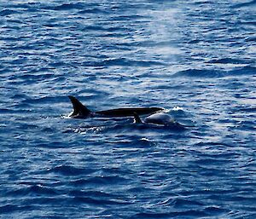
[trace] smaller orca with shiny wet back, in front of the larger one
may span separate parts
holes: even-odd
[[[177,123],[175,119],[173,119],[165,112],[154,113],[153,115],[146,117],[144,121],[139,117],[137,112],[134,112],[133,116],[135,124],[155,124],[160,126],[176,127],[181,129],[185,128],[183,124]]]

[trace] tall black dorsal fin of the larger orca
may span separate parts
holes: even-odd
[[[68,98],[73,104],[73,112],[70,113],[70,117],[73,118],[84,118],[90,115],[90,110],[85,107],[77,98],[69,95]]]

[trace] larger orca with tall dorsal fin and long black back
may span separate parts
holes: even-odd
[[[103,110],[92,112],[85,107],[77,98],[72,95],[68,96],[73,104],[73,112],[68,117],[70,118],[90,118],[90,117],[133,117],[134,113],[137,115],[153,114],[155,112],[163,111],[160,107],[127,107],[127,108],[116,108],[110,110]]]

